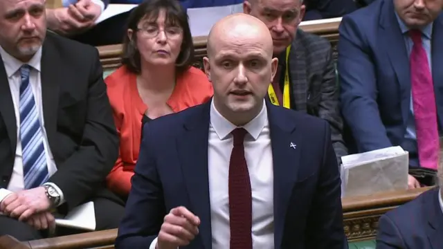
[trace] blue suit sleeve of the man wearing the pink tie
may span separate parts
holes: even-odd
[[[338,28],[338,73],[341,109],[359,152],[392,146],[381,122],[377,82],[365,28],[343,17]]]

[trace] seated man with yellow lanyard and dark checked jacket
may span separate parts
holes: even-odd
[[[278,57],[277,75],[269,86],[271,102],[327,120],[340,162],[347,149],[331,44],[298,28],[305,14],[300,0],[249,0],[244,1],[243,8],[246,14],[263,21],[271,32],[273,56]]]

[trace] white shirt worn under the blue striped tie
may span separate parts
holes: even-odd
[[[0,55],[1,59],[3,59],[3,64],[6,69],[6,75],[8,76],[9,88],[12,96],[12,102],[14,104],[14,113],[17,125],[17,147],[15,149],[14,167],[12,169],[12,176],[8,185],[8,189],[0,189],[0,202],[1,202],[6,196],[8,196],[8,194],[24,190],[23,161],[21,155],[21,138],[19,136],[19,131],[20,131],[19,100],[20,100],[20,84],[21,84],[21,76],[19,70],[21,66],[23,66],[25,63],[20,62],[15,57],[12,57],[8,53],[6,53],[6,51],[1,46],[0,46]],[[40,48],[37,51],[37,53],[35,53],[33,58],[30,59],[30,61],[26,64],[28,64],[31,67],[29,75],[29,83],[31,89],[33,90],[35,104],[37,107],[37,111],[39,113],[39,122],[42,125],[43,145],[46,156],[46,165],[48,167],[48,174],[49,176],[52,176],[57,171],[57,167],[55,165],[51,148],[49,147],[48,144],[48,136],[46,133],[46,129],[44,127],[42,82],[40,75],[41,59],[42,59],[42,48]],[[4,166],[5,165],[3,165],[2,167]],[[57,192],[60,194],[61,197],[60,203],[63,203],[64,196],[60,188],[53,183],[46,183],[46,184],[55,187],[55,190],[57,190]]]

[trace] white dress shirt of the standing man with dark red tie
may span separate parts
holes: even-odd
[[[213,249],[229,249],[229,195],[228,176],[230,154],[234,147],[234,124],[210,107],[208,143],[208,177],[210,219]],[[244,138],[244,154],[248,165],[252,190],[252,241],[254,249],[274,248],[273,216],[273,157],[269,133],[268,113],[262,111],[243,126],[248,134]],[[152,241],[154,249],[157,239]]]

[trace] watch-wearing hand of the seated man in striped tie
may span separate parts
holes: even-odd
[[[46,196],[44,187],[35,187],[22,190],[6,196],[0,203],[0,211],[19,221],[26,221],[39,212],[46,212],[51,208],[51,202]]]

